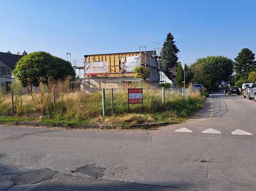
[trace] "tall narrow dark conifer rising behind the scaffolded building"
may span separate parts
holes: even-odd
[[[164,42],[163,50],[161,52],[161,55],[163,56],[166,63],[166,70],[172,69],[174,66],[177,65],[177,54],[179,52],[180,50],[175,45],[173,35],[171,33],[168,33]]]

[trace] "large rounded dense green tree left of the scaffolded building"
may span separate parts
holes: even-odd
[[[75,77],[70,62],[46,52],[33,52],[22,57],[13,70],[13,74],[23,86],[38,86],[39,80],[47,83],[52,80],[64,80],[67,76]]]

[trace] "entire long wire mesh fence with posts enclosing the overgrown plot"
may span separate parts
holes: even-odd
[[[0,115],[58,115],[69,119],[129,112],[159,112],[175,98],[200,93],[200,89],[143,88],[143,104],[128,104],[128,89],[102,89],[88,93],[69,89],[49,89],[46,85],[24,92],[12,87],[0,92]]]

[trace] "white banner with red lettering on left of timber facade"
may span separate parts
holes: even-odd
[[[107,75],[107,61],[85,63],[85,75]]]

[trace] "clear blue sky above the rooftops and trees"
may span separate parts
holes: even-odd
[[[256,53],[255,0],[0,0],[0,52],[84,54],[153,48],[171,32],[179,60]]]

